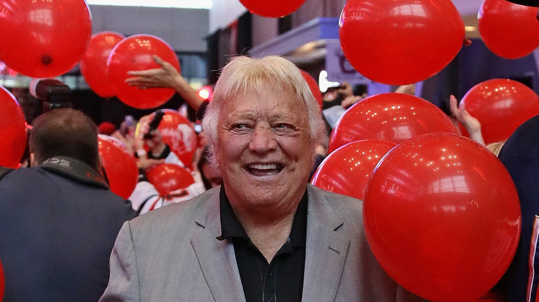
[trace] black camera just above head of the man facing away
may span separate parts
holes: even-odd
[[[43,103],[44,113],[58,108],[72,108],[71,89],[57,79],[33,79],[30,94]]]

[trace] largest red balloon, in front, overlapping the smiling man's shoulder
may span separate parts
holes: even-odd
[[[372,173],[363,224],[376,259],[430,301],[474,301],[509,267],[520,203],[502,163],[452,133],[399,143]]]

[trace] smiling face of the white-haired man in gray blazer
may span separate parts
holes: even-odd
[[[295,210],[315,148],[305,105],[295,94],[268,89],[233,97],[220,112],[217,131],[215,154],[231,205]]]

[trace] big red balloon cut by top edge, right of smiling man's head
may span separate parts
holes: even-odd
[[[442,70],[464,41],[451,0],[348,0],[339,20],[344,55],[360,74],[389,85]]]

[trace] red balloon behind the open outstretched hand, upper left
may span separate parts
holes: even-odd
[[[120,101],[138,109],[155,108],[169,101],[174,90],[171,88],[140,89],[125,83],[131,77],[130,70],[160,68],[153,55],[171,63],[180,71],[176,52],[162,39],[149,34],[135,34],[117,43],[106,62],[108,79],[114,94]]]

